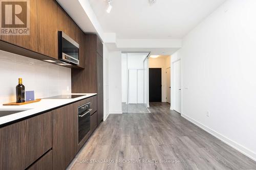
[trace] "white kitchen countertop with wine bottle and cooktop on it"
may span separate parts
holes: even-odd
[[[56,107],[67,105],[82,99],[90,98],[97,93],[72,93],[72,95],[83,95],[74,99],[42,99],[40,102],[31,103],[20,106],[0,106],[0,110],[25,110],[22,112],[10,114],[7,116],[0,117],[0,126],[11,123],[15,120],[31,116],[40,112],[54,109]],[[28,110],[29,109],[29,110]]]

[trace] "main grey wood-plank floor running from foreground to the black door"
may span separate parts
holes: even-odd
[[[151,103],[150,111],[109,115],[69,169],[256,169],[256,162],[170,111],[168,104]]]

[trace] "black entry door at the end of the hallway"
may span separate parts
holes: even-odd
[[[162,102],[162,68],[150,68],[150,102]]]

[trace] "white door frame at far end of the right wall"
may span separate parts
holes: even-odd
[[[171,58],[171,60],[172,60],[172,58]],[[175,59],[175,60],[172,60],[171,61],[171,66],[170,66],[170,68],[171,68],[171,72],[170,72],[170,101],[172,101],[172,103],[171,103],[171,105],[170,105],[170,110],[175,110],[175,101],[176,101],[176,97],[175,97],[175,89],[174,89],[174,87],[175,87],[175,80],[174,80],[174,75],[175,75],[175,71],[174,71],[174,63],[175,62],[178,62],[178,61],[180,61],[180,67],[181,67],[181,113],[180,114],[182,114],[183,113],[183,100],[182,100],[182,96],[183,96],[183,80],[182,80],[182,60],[181,60],[181,58],[178,58],[178,59]]]

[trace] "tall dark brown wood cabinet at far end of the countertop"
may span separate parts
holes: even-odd
[[[97,93],[99,124],[103,119],[103,44],[96,34],[86,34],[85,41],[86,69],[72,69],[72,92]]]

